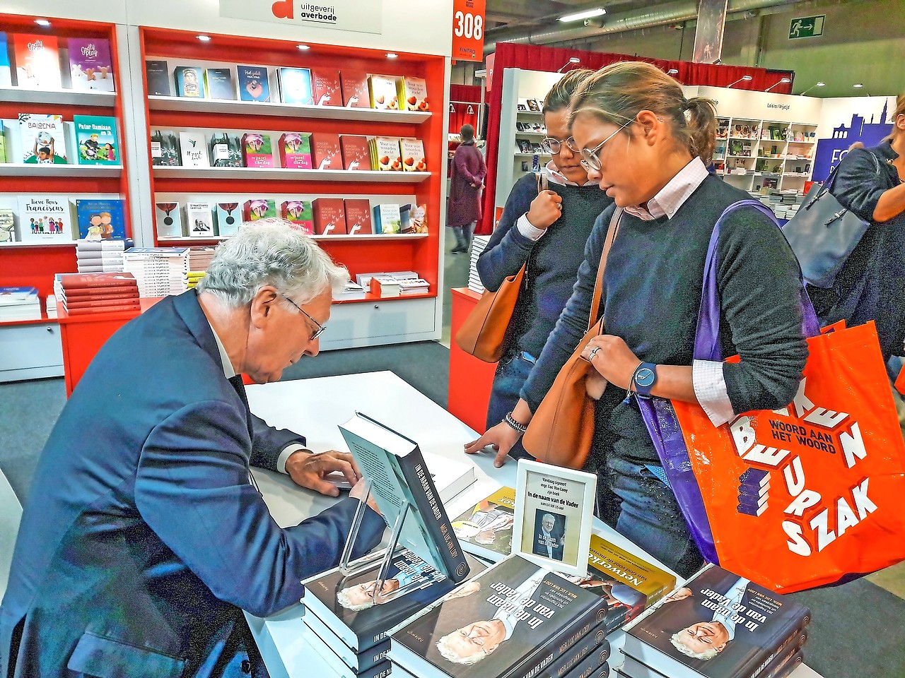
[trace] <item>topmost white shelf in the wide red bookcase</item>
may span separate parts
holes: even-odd
[[[375,108],[343,108],[309,106],[271,101],[236,101],[233,99],[186,99],[180,97],[148,97],[151,110],[178,110],[191,113],[238,113],[259,116],[299,116],[330,120],[367,120],[370,122],[404,122],[420,124],[430,118],[431,111],[376,110]]]

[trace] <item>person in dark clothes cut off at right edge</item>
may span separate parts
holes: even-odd
[[[905,93],[896,101],[890,137],[878,146],[853,147],[836,170],[832,193],[871,225],[834,287],[807,291],[824,325],[873,320],[888,363],[905,353]]]

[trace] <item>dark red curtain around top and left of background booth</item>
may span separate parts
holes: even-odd
[[[578,57],[578,63],[568,63],[570,57]],[[500,151],[500,108],[502,103],[502,74],[503,69],[519,68],[531,71],[556,72],[563,64],[568,67],[563,71],[571,71],[573,68],[602,69],[615,61],[647,61],[664,72],[676,69],[678,74],[673,74],[676,80],[683,85],[710,85],[712,87],[726,87],[741,79],[743,75],[750,75],[751,80],[741,80],[732,85],[733,89],[752,89],[764,91],[771,85],[776,85],[782,78],[790,81],[781,83],[770,89],[776,94],[791,94],[792,84],[795,80],[794,71],[774,71],[748,66],[723,66],[707,63],[691,63],[691,61],[666,61],[662,59],[647,59],[645,57],[631,56],[628,54],[611,54],[606,52],[584,52],[582,50],[562,49],[557,47],[540,47],[538,45],[516,44],[513,42],[499,42],[494,53],[492,67],[491,90],[488,93],[487,105],[490,116],[487,121],[487,166],[496,168],[497,156]],[[539,95],[539,92],[538,92]],[[452,126],[450,127],[452,130]],[[484,189],[483,221],[478,224],[476,233],[489,235],[493,231],[494,196],[496,193],[496,172],[488,173]]]

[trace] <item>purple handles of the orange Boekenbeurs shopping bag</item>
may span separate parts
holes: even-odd
[[[719,232],[723,225],[723,221],[732,212],[739,209],[750,207],[762,212],[772,221],[776,228],[776,215],[764,203],[758,200],[739,200],[733,202],[727,207],[719,219],[713,226],[713,232],[710,234],[710,244],[707,248],[707,259],[704,261],[704,282],[700,296],[700,309],[698,310],[698,328],[694,337],[694,358],[695,360],[722,361],[722,348],[719,345],[719,288],[717,287],[717,245],[719,242]],[[799,272],[799,280],[801,274]],[[802,309],[802,331],[805,336],[816,336],[820,334],[820,321],[814,313],[814,306],[811,304],[811,298],[807,296],[805,291],[805,283],[802,281],[799,291],[799,303]]]

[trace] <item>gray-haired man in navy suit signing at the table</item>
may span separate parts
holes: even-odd
[[[242,611],[297,603],[301,579],[337,564],[364,486],[278,527],[250,465],[317,489],[357,473],[253,416],[241,375],[277,381],[316,355],[347,279],[285,221],[243,224],[196,289],[104,344],[34,474],[0,606],[0,675],[267,675]],[[371,509],[364,520],[373,548],[384,523]]]

